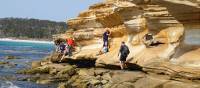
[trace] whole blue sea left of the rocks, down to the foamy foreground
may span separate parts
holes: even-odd
[[[53,43],[0,40],[0,88],[55,88],[55,85],[41,85],[19,81],[26,75],[16,74],[18,70],[30,68],[31,62],[41,60],[54,50]],[[12,56],[16,59],[6,59]]]

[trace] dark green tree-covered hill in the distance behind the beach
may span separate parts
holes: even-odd
[[[65,22],[39,19],[1,18],[0,38],[51,39],[53,34],[65,32]]]

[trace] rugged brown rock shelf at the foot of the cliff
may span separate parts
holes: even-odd
[[[68,60],[52,63],[52,57],[32,62],[32,68],[18,71],[20,74],[33,75],[21,81],[33,81],[39,84],[57,83],[58,88],[199,88],[198,77],[191,74],[170,72],[169,69],[155,69],[128,64],[120,70],[117,65],[95,66],[91,60]],[[55,59],[54,59],[55,60]],[[148,70],[147,70],[148,69]],[[172,69],[171,69],[172,70]],[[154,71],[154,72],[152,72]],[[182,74],[182,75],[181,75]],[[185,75],[188,75],[185,76]]]

